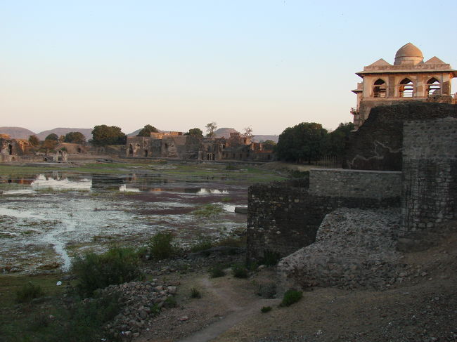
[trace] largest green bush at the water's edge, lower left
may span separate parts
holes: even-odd
[[[139,262],[134,249],[119,247],[104,254],[89,253],[77,258],[72,265],[78,279],[77,290],[81,296],[92,296],[96,289],[142,279]]]

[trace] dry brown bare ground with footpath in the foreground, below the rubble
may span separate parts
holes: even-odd
[[[457,341],[457,234],[405,254],[404,263],[416,273],[392,289],[315,287],[289,307],[256,294],[274,279],[273,269],[248,279],[210,278],[202,270],[162,275],[179,282],[179,306],[162,311],[134,341]],[[202,298],[189,298],[193,287]],[[263,306],[272,310],[261,313]]]

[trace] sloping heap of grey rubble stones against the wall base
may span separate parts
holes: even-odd
[[[390,287],[404,273],[396,250],[400,220],[399,209],[342,208],[329,213],[316,242],[279,263],[281,287]]]

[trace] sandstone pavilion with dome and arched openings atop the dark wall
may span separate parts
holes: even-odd
[[[437,57],[424,62],[422,51],[411,43],[401,46],[394,65],[380,58],[356,72],[362,81],[352,92],[357,107],[351,108],[358,129],[368,119],[371,108],[404,101],[456,103],[451,95],[451,80],[457,70]]]

